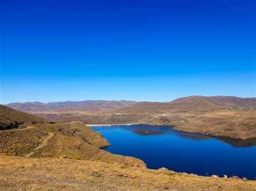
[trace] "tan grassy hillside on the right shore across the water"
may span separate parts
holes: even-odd
[[[256,138],[255,110],[220,110],[197,115],[192,113],[184,115],[190,123],[178,125],[174,129],[234,139]]]

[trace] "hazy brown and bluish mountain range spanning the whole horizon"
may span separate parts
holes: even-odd
[[[66,102],[25,102],[9,103],[8,107],[25,112],[164,112],[168,110],[213,110],[230,107],[256,107],[256,98],[235,96],[189,96],[171,102],[134,102],[134,101],[66,101]]]

